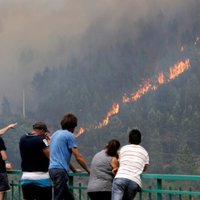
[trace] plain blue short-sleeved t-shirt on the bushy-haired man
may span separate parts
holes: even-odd
[[[74,135],[67,130],[57,130],[51,137],[49,169],[65,169],[69,173],[72,148],[76,148]]]

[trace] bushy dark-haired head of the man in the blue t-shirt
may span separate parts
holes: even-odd
[[[63,116],[60,125],[63,130],[68,130],[70,132],[74,132],[75,127],[77,126],[77,117],[72,113],[68,113]]]

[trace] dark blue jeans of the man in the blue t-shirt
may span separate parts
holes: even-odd
[[[74,200],[67,185],[69,180],[67,172],[64,169],[49,169],[49,175],[54,185],[54,200]]]

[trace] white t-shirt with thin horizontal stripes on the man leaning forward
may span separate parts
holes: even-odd
[[[129,144],[120,149],[119,169],[115,178],[127,178],[142,187],[140,174],[149,164],[149,155],[140,145]]]

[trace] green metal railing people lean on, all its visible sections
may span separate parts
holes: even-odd
[[[8,171],[11,191],[6,200],[21,200],[20,170]],[[199,200],[200,176],[171,174],[142,174],[143,189],[137,195],[138,200]],[[71,173],[70,189],[76,200],[88,200],[87,173]]]

